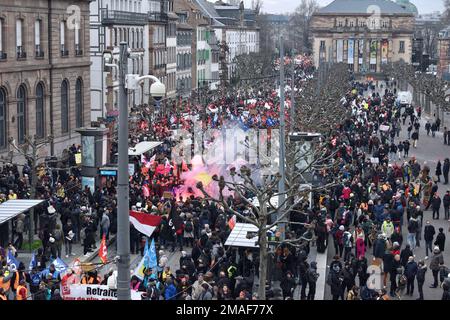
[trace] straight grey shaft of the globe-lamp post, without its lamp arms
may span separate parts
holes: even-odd
[[[128,44],[120,43],[119,58],[119,160],[117,182],[117,299],[131,300],[130,291],[130,203],[128,186]]]

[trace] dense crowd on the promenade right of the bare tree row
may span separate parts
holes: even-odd
[[[442,299],[449,296],[449,269],[443,256],[448,230],[435,230],[424,214],[431,207],[433,220],[450,218],[450,190],[438,191],[440,175],[448,183],[449,159],[444,161],[444,172],[439,162],[434,176],[426,163],[420,165],[408,156],[410,142],[398,139],[400,119],[404,125],[410,119],[408,135],[413,133],[408,137],[417,147],[420,110],[402,108],[394,90],[386,88],[383,96],[375,92],[364,96],[364,88],[356,88],[347,97],[353,115],[330,145],[344,160],[345,179],[324,198],[324,217],[316,232],[320,241],[332,239],[335,257],[327,284],[333,300],[413,296],[416,282],[417,299],[423,300],[428,270],[434,278],[431,288],[442,285]],[[416,261],[423,247],[425,259]],[[378,267],[375,275],[367,273],[369,266]],[[377,277],[382,281],[377,282]]]

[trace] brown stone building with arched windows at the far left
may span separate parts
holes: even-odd
[[[54,137],[49,153],[80,143],[90,125],[88,0],[0,2],[0,154],[8,138]]]

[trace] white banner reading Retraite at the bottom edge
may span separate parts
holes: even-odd
[[[108,286],[71,284],[61,290],[64,300],[117,300],[117,291]],[[141,292],[131,290],[131,300],[142,300]]]

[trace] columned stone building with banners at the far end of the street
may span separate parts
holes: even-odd
[[[335,0],[312,18],[315,65],[346,63],[356,74],[377,76],[383,64],[411,63],[414,19],[388,0]]]

